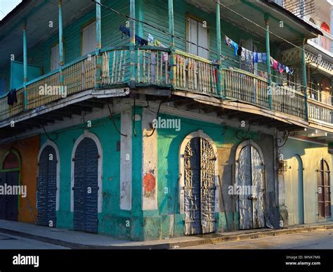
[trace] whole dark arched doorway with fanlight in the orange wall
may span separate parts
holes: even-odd
[[[0,186],[15,188],[20,185],[20,155],[15,150],[10,150],[4,155],[0,169]],[[15,187],[13,187],[15,186]],[[18,221],[18,194],[0,195],[0,219]]]

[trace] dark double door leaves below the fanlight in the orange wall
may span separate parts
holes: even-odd
[[[0,173],[0,186],[18,186],[18,171]],[[18,221],[18,195],[0,195],[0,219]]]

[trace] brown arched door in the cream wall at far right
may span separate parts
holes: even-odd
[[[325,219],[331,216],[331,188],[329,175],[329,165],[326,160],[320,160],[317,169],[318,214],[320,219]]]

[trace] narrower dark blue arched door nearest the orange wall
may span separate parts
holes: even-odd
[[[41,226],[56,226],[57,163],[54,148],[46,146],[39,157],[37,185],[37,220]]]

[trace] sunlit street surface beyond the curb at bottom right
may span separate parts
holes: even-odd
[[[249,249],[275,249],[275,250],[333,250],[333,229],[323,231],[308,231],[288,235],[270,236],[243,240],[239,242],[221,242],[211,245],[183,247],[183,250],[249,250]]]

